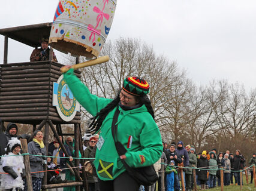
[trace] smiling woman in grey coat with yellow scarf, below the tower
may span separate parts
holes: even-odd
[[[44,167],[43,165],[47,164],[46,161],[46,147],[44,146],[43,142],[43,132],[42,131],[35,131],[34,132],[34,138],[33,141],[28,143],[28,153],[29,153],[29,162],[30,162],[30,169],[31,172],[37,172],[32,173],[32,187],[33,191],[40,191],[42,180],[44,177],[44,172],[38,172],[43,171]],[[41,155],[41,156],[34,156],[34,155]],[[28,187],[25,184],[25,190],[27,190]]]

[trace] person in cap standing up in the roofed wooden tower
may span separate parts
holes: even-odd
[[[50,48],[48,47],[49,38],[43,37],[40,40],[41,47],[40,49],[35,48],[30,56],[30,61],[47,61],[49,60]],[[52,60],[57,61],[55,53],[52,52]]]

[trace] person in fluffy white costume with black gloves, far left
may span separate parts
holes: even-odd
[[[0,172],[8,174],[1,175],[0,190],[23,190],[22,170],[25,166],[23,156],[20,155],[20,149],[20,141],[17,138],[8,141],[7,155],[2,157],[0,167]]]

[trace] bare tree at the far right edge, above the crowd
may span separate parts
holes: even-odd
[[[250,138],[254,133],[255,123],[255,91],[246,95],[243,86],[231,84],[227,98],[221,107],[222,115],[219,124],[224,133],[234,140],[234,147],[240,146],[240,138]]]

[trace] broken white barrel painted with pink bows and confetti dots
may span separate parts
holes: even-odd
[[[98,57],[109,34],[116,0],[61,0],[50,32],[50,45],[73,56]]]

